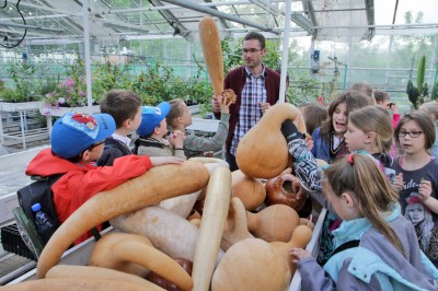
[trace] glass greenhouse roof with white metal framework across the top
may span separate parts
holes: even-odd
[[[68,44],[90,39],[116,45],[126,39],[197,37],[199,19],[211,15],[222,36],[263,31],[279,37],[285,30],[285,0],[13,0],[0,7],[0,44]],[[406,1],[404,1],[406,2]],[[408,1],[411,5],[433,0]],[[405,4],[405,3],[403,3]],[[316,40],[359,42],[374,34],[399,30],[437,33],[438,24],[401,25],[404,8],[399,0],[302,0],[291,1],[291,36],[311,35]],[[401,11],[403,7],[403,11]],[[431,8],[431,7],[430,7]],[[427,9],[427,8],[426,8]],[[382,22],[377,18],[383,14]],[[435,20],[436,9],[424,10],[424,19]],[[435,13],[435,15],[430,15]],[[85,18],[84,18],[85,15]],[[289,25],[287,25],[289,26]]]

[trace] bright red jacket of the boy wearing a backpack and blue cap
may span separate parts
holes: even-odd
[[[41,151],[28,164],[26,175],[47,177],[66,173],[51,187],[59,221],[62,223],[95,194],[111,190],[122,183],[145,174],[152,163],[147,155],[126,155],[114,161],[113,166],[74,164],[51,154],[51,149]],[[82,235],[74,244],[88,237]]]

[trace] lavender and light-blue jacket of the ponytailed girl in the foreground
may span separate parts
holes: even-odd
[[[343,221],[333,232],[335,246],[360,240],[359,246],[334,255],[324,269],[314,259],[300,260],[303,290],[438,290],[438,270],[419,251],[412,223],[401,216],[399,205],[391,210],[384,219],[396,232],[406,256],[367,219]]]

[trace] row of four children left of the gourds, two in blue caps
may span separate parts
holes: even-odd
[[[101,102],[101,114],[71,112],[57,119],[50,132],[51,149],[41,151],[31,161],[26,175],[62,174],[51,187],[62,223],[95,194],[140,176],[152,166],[181,164],[203,150],[220,150],[228,132],[229,105],[220,102],[218,132],[203,138],[185,136],[192,116],[184,101],[142,106],[140,96],[131,91],[111,91]],[[163,138],[168,133],[166,119],[175,128],[169,139]],[[128,136],[134,131],[139,138],[131,151]],[[76,244],[90,236],[91,232],[82,235]]]

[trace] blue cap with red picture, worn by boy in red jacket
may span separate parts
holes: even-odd
[[[93,143],[111,137],[115,130],[116,123],[110,114],[66,113],[51,129],[51,151],[64,159],[78,156]]]

